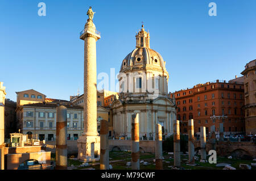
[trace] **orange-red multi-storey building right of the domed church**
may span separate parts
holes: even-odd
[[[208,134],[212,125],[218,134],[220,123],[225,135],[245,132],[242,81],[242,77],[236,77],[229,82],[217,80],[175,91],[180,132],[188,134],[189,119],[194,120],[195,134],[200,134],[200,127],[205,127]]]

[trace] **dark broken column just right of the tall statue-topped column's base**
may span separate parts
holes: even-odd
[[[101,156],[100,156],[100,169],[109,169],[109,122],[101,120]]]

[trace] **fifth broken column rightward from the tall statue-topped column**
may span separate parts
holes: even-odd
[[[195,164],[194,120],[188,120],[188,163]]]

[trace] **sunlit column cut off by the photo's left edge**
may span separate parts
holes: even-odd
[[[0,170],[5,169],[5,87],[0,82]]]

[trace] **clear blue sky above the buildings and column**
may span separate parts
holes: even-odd
[[[39,16],[39,2],[46,16]],[[209,16],[210,2],[217,16]],[[34,89],[66,99],[83,91],[84,28],[92,6],[97,41],[97,74],[121,62],[135,48],[135,32],[150,31],[170,75],[168,91],[216,79],[229,80],[256,59],[256,1],[0,1],[0,81],[6,98]],[[98,80],[100,81],[100,80]]]

